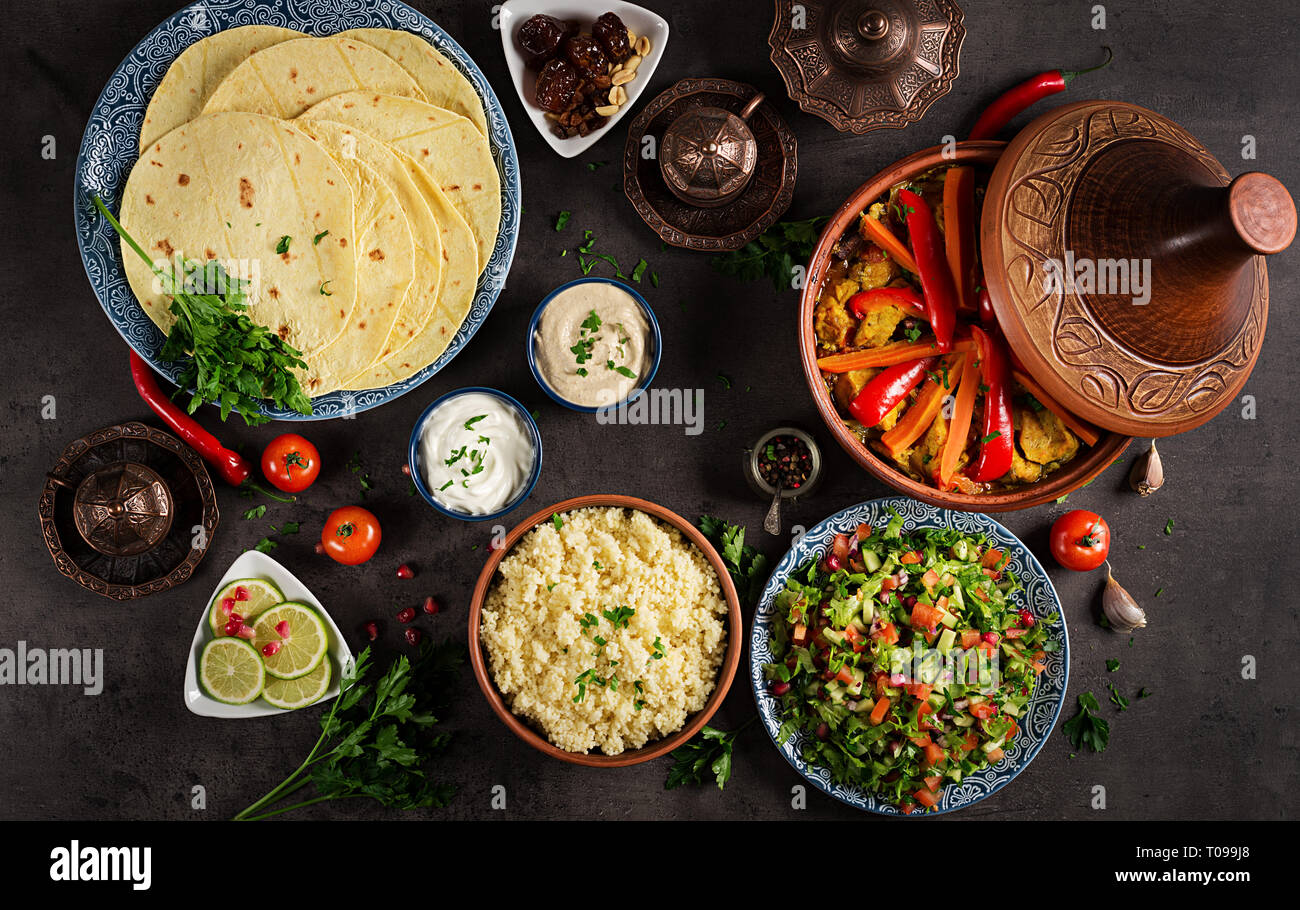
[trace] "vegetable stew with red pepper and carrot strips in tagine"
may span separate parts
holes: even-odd
[[[812,317],[845,424],[907,476],[966,494],[1043,480],[1101,436],[998,330],[976,251],[983,183],[945,166],[892,187],[836,243]]]

